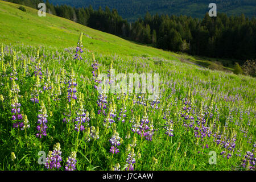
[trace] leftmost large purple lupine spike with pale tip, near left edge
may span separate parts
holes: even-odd
[[[20,114],[20,104],[18,101],[18,98],[15,96],[11,106],[13,107],[11,109],[11,113],[13,113],[11,119],[14,121],[13,123],[13,127],[20,127],[22,128],[24,126],[23,122],[22,122],[22,114]]]

